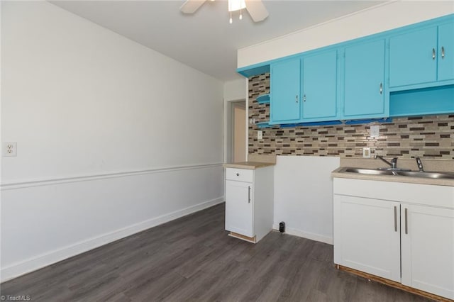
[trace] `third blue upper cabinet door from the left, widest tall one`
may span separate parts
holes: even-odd
[[[384,40],[345,48],[344,118],[381,118],[384,104]]]

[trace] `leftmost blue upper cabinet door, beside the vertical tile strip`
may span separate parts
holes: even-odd
[[[301,118],[299,59],[277,62],[270,69],[270,124],[294,123]]]

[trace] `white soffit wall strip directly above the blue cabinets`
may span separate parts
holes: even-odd
[[[389,1],[238,50],[238,67],[294,55],[454,13],[453,1]]]

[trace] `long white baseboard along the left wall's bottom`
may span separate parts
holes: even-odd
[[[222,203],[223,201],[224,198],[223,196],[221,196],[210,201],[205,201],[203,203],[196,204],[195,206],[190,206],[189,208],[183,208],[172,213],[168,213],[162,216],[151,218],[150,220],[145,220],[143,222],[130,225],[126,228],[115,230],[114,232],[111,233],[106,233],[104,235],[93,237],[88,240],[77,242],[74,245],[63,247],[59,250],[54,250],[52,252],[39,255],[38,257],[27,259],[23,262],[10,265],[9,267],[1,268],[0,281],[4,282],[8,281],[9,279],[21,276],[23,274],[28,274],[43,267],[47,267],[50,264],[60,262],[64,259],[82,254],[83,252],[87,252],[89,250],[93,250],[94,248],[100,247],[101,245],[106,245],[110,242],[114,242],[121,238],[128,237],[135,233],[139,233],[143,230],[147,230],[148,228],[153,228],[157,225],[161,225],[162,223],[167,223],[171,220],[175,220],[177,218],[187,216],[191,213],[201,211],[204,208],[215,206],[216,204]]]

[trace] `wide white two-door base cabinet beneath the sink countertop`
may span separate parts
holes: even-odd
[[[454,298],[454,186],[335,177],[333,192],[336,264]]]

